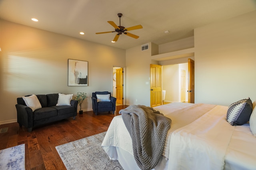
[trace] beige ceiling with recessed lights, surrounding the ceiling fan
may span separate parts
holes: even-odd
[[[256,10],[256,0],[0,0],[3,20],[121,49],[148,42],[161,45],[194,35],[194,28]],[[141,24],[128,31],[138,39],[116,33],[107,21],[121,26]],[[31,18],[37,18],[34,22]],[[164,33],[164,31],[170,33]],[[85,32],[80,35],[79,32]]]

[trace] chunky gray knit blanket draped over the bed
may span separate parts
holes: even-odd
[[[132,138],[134,158],[142,170],[151,170],[164,151],[172,120],[152,107],[131,105],[119,111]]]

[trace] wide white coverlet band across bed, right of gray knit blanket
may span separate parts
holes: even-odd
[[[170,141],[169,170],[222,170],[234,126],[216,106],[200,119],[177,129]]]

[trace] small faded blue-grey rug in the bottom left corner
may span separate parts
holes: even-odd
[[[25,169],[25,144],[0,150],[0,170]]]

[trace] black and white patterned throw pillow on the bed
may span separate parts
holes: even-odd
[[[252,100],[239,100],[228,107],[227,121],[230,125],[243,125],[248,122],[252,114]]]

